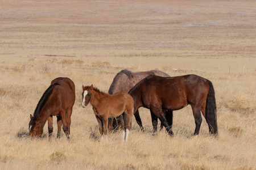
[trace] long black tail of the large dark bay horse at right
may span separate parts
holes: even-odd
[[[212,134],[218,133],[218,126],[217,126],[217,109],[216,109],[216,100],[215,100],[215,93],[212,82],[207,80],[209,84],[209,92],[207,96],[207,104],[205,108],[205,118],[207,124],[209,126],[209,131]]]

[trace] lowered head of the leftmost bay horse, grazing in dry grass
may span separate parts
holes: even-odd
[[[36,118],[30,114],[30,123],[28,124],[28,130],[30,137],[40,137],[43,134],[43,128],[40,126],[41,117]]]

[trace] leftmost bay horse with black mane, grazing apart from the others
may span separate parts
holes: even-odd
[[[47,88],[36,106],[34,116],[30,114],[29,132],[31,137],[43,134],[48,120],[49,137],[52,135],[52,116],[57,116],[57,137],[60,137],[61,123],[69,139],[72,108],[75,103],[75,84],[69,78],[56,78]]]

